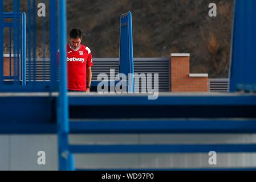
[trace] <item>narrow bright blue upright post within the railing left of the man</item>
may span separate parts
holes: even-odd
[[[26,13],[22,13],[22,86],[26,84]]]

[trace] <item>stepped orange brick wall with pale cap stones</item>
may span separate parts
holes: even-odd
[[[170,88],[172,92],[209,92],[208,74],[190,73],[189,54],[173,53],[170,61]]]

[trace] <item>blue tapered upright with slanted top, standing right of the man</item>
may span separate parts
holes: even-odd
[[[120,17],[119,72],[124,73],[127,78],[129,78],[130,82],[128,82],[128,92],[133,93],[135,86],[131,12],[123,14]]]

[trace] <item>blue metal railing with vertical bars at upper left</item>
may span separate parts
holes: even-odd
[[[3,3],[3,1],[1,1]],[[38,2],[35,0],[27,1],[27,8],[21,13],[21,1],[13,0],[13,10],[4,12],[1,18],[8,19],[8,22],[2,20],[1,32],[3,28],[8,27],[9,31],[9,76],[3,75],[3,61],[0,67],[0,92],[53,92],[58,91],[56,52],[58,49],[58,26],[57,23],[57,5],[56,0],[50,1],[50,14],[47,17],[50,20],[50,59],[51,72],[50,79],[48,75],[46,61],[46,16],[38,17]],[[22,2],[24,3],[24,2]],[[42,1],[46,3],[46,1]],[[46,7],[47,9],[47,7]],[[27,19],[26,19],[27,16]],[[37,30],[38,22],[42,20],[42,30]],[[42,39],[38,39],[38,36]],[[3,42],[3,36],[1,36]],[[7,40],[5,40],[6,43]],[[1,44],[3,55],[3,44]],[[40,52],[40,59],[38,53]],[[7,55],[7,54],[6,54]],[[13,57],[11,57],[13,56]],[[1,57],[1,60],[3,57]],[[7,63],[5,63],[7,64]],[[47,67],[46,67],[47,66]],[[40,70],[38,70],[40,68]],[[8,80],[6,80],[8,78]],[[40,82],[38,82],[40,80]]]

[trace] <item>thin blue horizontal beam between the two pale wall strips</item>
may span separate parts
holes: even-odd
[[[198,153],[215,151],[256,152],[256,144],[116,144],[116,145],[70,145],[72,153]]]

